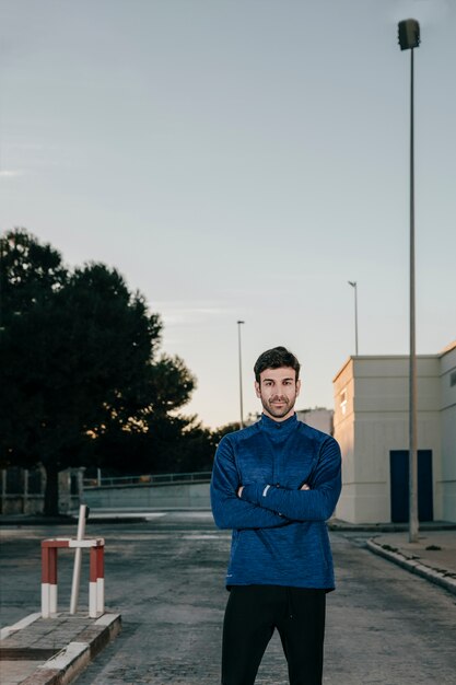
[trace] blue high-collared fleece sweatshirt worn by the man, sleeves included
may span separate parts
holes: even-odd
[[[304,484],[311,489],[301,490]],[[296,415],[285,421],[262,415],[225,436],[215,454],[211,502],[217,525],[233,529],[226,585],[334,590],[326,521],[340,490],[338,443]]]

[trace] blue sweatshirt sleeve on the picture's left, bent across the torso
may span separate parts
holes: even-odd
[[[211,506],[220,529],[266,529],[289,523],[285,516],[237,497],[241,485],[233,444],[225,436],[217,450],[211,479]]]

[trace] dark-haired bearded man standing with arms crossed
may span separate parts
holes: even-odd
[[[267,350],[254,370],[262,416],[221,440],[211,481],[215,523],[233,530],[222,685],[255,683],[276,628],[291,685],[320,685],[326,593],[335,588],[326,520],[340,495],[340,450],[296,418],[294,355]]]

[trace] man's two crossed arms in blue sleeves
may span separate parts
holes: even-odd
[[[278,527],[292,521],[326,521],[336,508],[341,489],[339,445],[328,440],[321,448],[307,484],[291,490],[270,484],[238,483],[231,444],[220,444],[211,484],[212,511],[222,529]]]

